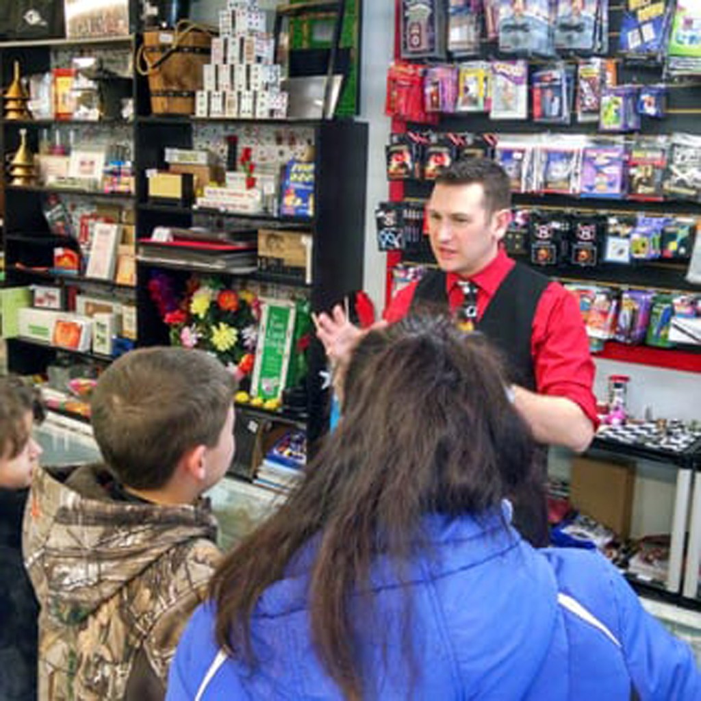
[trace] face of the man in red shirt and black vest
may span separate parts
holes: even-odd
[[[510,219],[509,210],[485,210],[482,184],[437,183],[428,200],[428,234],[440,268],[478,273],[496,256]]]

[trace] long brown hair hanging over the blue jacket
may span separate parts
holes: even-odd
[[[349,699],[362,698],[350,597],[374,557],[402,571],[421,543],[421,517],[479,515],[524,479],[528,428],[505,394],[486,342],[449,320],[413,318],[370,332],[349,368],[343,418],[299,489],[215,574],[217,642],[254,665],[250,628],[266,587],[318,535],[309,585],[315,651]],[[353,360],[351,361],[353,363]],[[372,605],[372,592],[369,594]]]

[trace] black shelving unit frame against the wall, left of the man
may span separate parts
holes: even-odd
[[[137,1],[131,2],[131,16],[136,18]],[[134,20],[132,20],[133,22]],[[12,41],[0,43],[0,79],[6,87],[11,81],[13,62],[20,60],[22,74],[47,72],[52,57],[57,51],[90,55],[94,50],[120,50],[132,56],[142,42],[142,36],[132,27],[130,36],[94,40],[47,39],[37,41]],[[221,273],[198,269],[196,264],[137,264],[135,288],[116,285],[102,280],[91,280],[80,276],[59,275],[50,272],[53,247],[57,237],[53,236],[43,217],[41,199],[47,193],[61,193],[86,201],[121,203],[134,211],[136,236],[147,238],[155,226],[190,226],[193,218],[199,222],[203,217],[212,221],[241,219],[248,224],[285,227],[308,231],[313,238],[311,282],[272,273],[254,272],[247,280],[278,287],[289,287],[308,294],[313,309],[327,309],[339,301],[344,294],[362,287],[362,260],[365,236],[365,180],[367,158],[367,125],[351,119],[314,120],[231,120],[202,119],[194,116],[162,116],[151,114],[149,90],[146,79],[135,76],[132,80],[134,116],[126,122],[120,120],[59,121],[50,119],[25,119],[2,121],[0,117],[0,152],[10,154],[18,148],[20,129],[27,130],[29,147],[36,153],[42,129],[74,129],[90,125],[91,128],[113,129],[123,125],[128,129],[135,164],[135,193],[132,196],[107,194],[93,191],[76,191],[67,188],[43,186],[6,186],[4,211],[4,250],[6,254],[6,285],[28,285],[32,283],[54,283],[71,290],[81,290],[89,285],[104,290],[107,297],[115,295],[132,297],[137,305],[137,345],[148,346],[168,342],[168,329],[158,316],[147,285],[154,268],[168,268],[176,275],[186,276],[191,272],[216,274],[226,278],[237,278],[232,273]],[[304,128],[313,135],[315,153],[315,211],[311,219],[272,217],[266,215],[238,215],[231,212],[197,209],[186,205],[168,205],[149,202],[147,198],[146,171],[163,168],[165,147],[189,148],[193,146],[193,135],[198,129],[217,125],[226,131],[229,128],[259,125],[261,129],[285,130]],[[60,245],[72,245],[64,238]],[[77,244],[76,244],[77,245]],[[43,268],[43,269],[31,269]],[[62,351],[63,349],[60,349]],[[8,339],[8,362],[11,370],[20,373],[43,372],[55,358],[59,349],[29,339]],[[303,423],[313,440],[325,430],[325,396],[322,388],[322,369],[325,357],[320,344],[314,341],[309,351],[309,373],[307,379],[307,405],[297,414],[285,411],[263,412],[275,421]],[[99,362],[109,362],[107,356],[76,354]]]

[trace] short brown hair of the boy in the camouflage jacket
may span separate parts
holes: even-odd
[[[97,381],[93,431],[107,467],[133,489],[159,489],[186,451],[214,447],[236,381],[219,360],[186,348],[141,348]]]

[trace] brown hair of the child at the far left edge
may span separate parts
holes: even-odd
[[[17,375],[0,377],[0,456],[18,456],[29,440],[25,417],[43,421],[45,409],[39,390]]]

